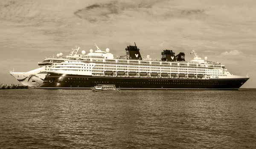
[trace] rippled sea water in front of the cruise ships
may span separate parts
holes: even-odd
[[[256,149],[256,90],[0,90],[0,149]]]

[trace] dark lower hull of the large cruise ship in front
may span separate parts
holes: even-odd
[[[103,77],[50,73],[41,89],[91,89],[97,84],[115,84],[121,89],[187,89],[187,90],[238,90],[249,78],[239,79],[171,79]]]

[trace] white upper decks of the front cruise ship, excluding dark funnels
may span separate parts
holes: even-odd
[[[205,57],[202,60],[193,50],[194,59],[186,61],[159,61],[152,60],[147,56],[147,59],[127,59],[114,58],[107,48],[106,51],[101,51],[95,44],[97,50],[85,54],[82,51],[82,56],[76,60],[68,59],[65,62],[55,66],[50,72],[79,74],[89,76],[119,76],[128,77],[129,72],[136,72],[133,77],[160,77],[160,78],[190,78],[197,79],[232,79],[232,78],[247,78],[245,76],[235,76],[230,74],[224,65],[218,62],[211,62]],[[113,72],[113,74],[112,74]],[[124,72],[124,73],[117,73]],[[144,75],[140,75],[143,73]],[[159,75],[153,76],[151,73]],[[163,73],[163,74],[162,74]],[[121,75],[120,75],[121,74]],[[175,76],[172,76],[176,74]]]

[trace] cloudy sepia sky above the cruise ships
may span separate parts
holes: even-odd
[[[256,88],[255,40],[255,0],[0,0],[0,83],[75,45],[122,56],[136,42],[153,59],[169,49],[188,61],[194,49]]]

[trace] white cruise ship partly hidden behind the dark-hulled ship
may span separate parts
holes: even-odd
[[[81,54],[78,54],[79,49],[79,46],[76,46],[76,49],[72,48],[70,54],[66,57],[62,57],[63,53],[58,53],[56,57],[45,58],[43,62],[38,62],[39,67],[34,70],[28,72],[14,72],[14,70],[12,70],[10,74],[25,86],[37,87],[44,82],[44,78],[51,68],[67,59],[74,60],[79,58],[79,56],[81,56]]]

